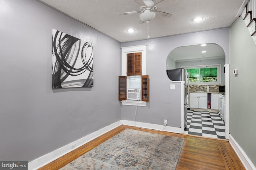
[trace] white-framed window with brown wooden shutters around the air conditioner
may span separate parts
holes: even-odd
[[[146,75],[146,45],[122,47],[122,76],[119,76],[119,97],[122,105],[146,106],[148,76]],[[140,100],[127,100],[129,89],[140,89]]]

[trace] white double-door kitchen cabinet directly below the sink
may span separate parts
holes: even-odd
[[[190,108],[207,109],[207,93],[190,93]]]

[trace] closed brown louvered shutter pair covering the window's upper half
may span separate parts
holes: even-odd
[[[141,57],[142,53],[127,54],[127,76],[140,76],[142,74]]]

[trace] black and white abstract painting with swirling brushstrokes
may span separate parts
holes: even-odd
[[[52,29],[52,88],[92,86],[92,43]]]

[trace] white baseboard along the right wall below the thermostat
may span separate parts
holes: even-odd
[[[229,143],[235,150],[236,154],[240,158],[240,160],[241,160],[242,164],[244,165],[244,167],[246,168],[246,170],[256,170],[256,168],[255,168],[254,164],[252,163],[252,161],[250,160],[250,158],[248,158],[248,156],[246,155],[244,150],[238,145],[236,140],[230,134],[229,134]]]

